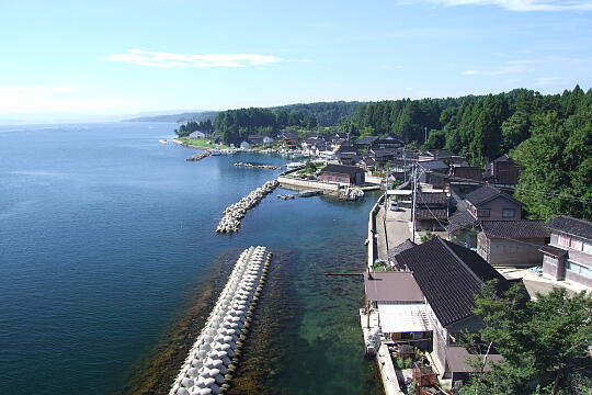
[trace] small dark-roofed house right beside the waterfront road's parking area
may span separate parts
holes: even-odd
[[[421,192],[415,195],[415,228],[444,230],[448,223],[448,201],[445,192]]]

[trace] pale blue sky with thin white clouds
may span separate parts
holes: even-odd
[[[592,0],[0,0],[0,120],[592,87]]]

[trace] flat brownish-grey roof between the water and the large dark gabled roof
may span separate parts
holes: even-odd
[[[364,290],[373,302],[423,302],[423,293],[410,272],[365,272]]]

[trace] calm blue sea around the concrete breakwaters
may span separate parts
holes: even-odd
[[[377,196],[283,201],[294,192],[277,189],[240,233],[216,234],[225,207],[278,173],[234,163],[286,159],[185,161],[194,148],[158,142],[175,127],[0,126],[0,394],[164,394],[179,338],[197,336],[231,263],[258,245],[275,267],[232,392],[379,394],[363,282],[326,275],[364,270]]]

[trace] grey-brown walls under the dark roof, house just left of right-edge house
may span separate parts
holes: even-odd
[[[508,239],[488,239],[483,232],[477,236],[477,252],[492,266],[535,266],[543,261],[538,246],[545,239],[530,238],[520,241]]]

